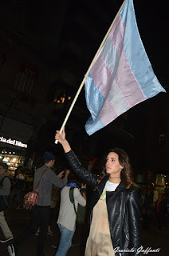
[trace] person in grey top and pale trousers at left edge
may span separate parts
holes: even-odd
[[[10,178],[6,176],[6,170],[8,170],[8,166],[6,165],[6,163],[0,162],[0,182],[2,181],[2,186],[0,186],[0,196],[10,194]],[[3,210],[0,211],[0,226],[5,236],[5,239],[1,239],[0,242],[8,242],[14,238],[6,222]]]

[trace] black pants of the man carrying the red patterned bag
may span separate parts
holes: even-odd
[[[35,234],[38,227],[40,227],[41,233],[37,238],[37,256],[44,256],[43,249],[45,244],[46,234],[48,232],[50,218],[50,206],[33,206],[33,222],[19,238],[14,242],[14,248],[16,252],[18,247],[26,241],[32,234]]]

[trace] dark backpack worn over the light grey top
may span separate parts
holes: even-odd
[[[78,204],[76,209],[75,203],[74,203],[73,191],[74,191],[74,187],[71,186],[69,190],[70,202],[73,203],[74,211],[75,211],[75,214],[77,215],[77,223],[84,224],[85,223],[85,206],[81,206],[80,204]]]

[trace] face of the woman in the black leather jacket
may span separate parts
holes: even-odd
[[[120,174],[123,166],[120,165],[118,154],[110,152],[106,159],[105,167],[107,174]]]

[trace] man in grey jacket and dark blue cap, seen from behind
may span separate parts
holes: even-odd
[[[16,239],[13,245],[8,246],[10,256],[17,255],[19,245],[22,244],[22,242],[25,242],[26,238],[29,238],[30,235],[35,234],[38,227],[40,227],[41,233],[37,238],[37,256],[44,256],[43,249],[46,234],[48,232],[52,186],[64,186],[68,181],[69,170],[65,173],[65,178],[62,179],[61,177],[64,171],[57,175],[53,170],[51,170],[54,166],[55,156],[46,151],[43,160],[45,165],[38,168],[34,175],[33,190],[37,186],[37,183],[41,178],[41,174],[45,170],[45,173],[41,178],[40,185],[38,186],[39,197],[37,204],[33,206],[32,226],[26,230],[20,238]]]

